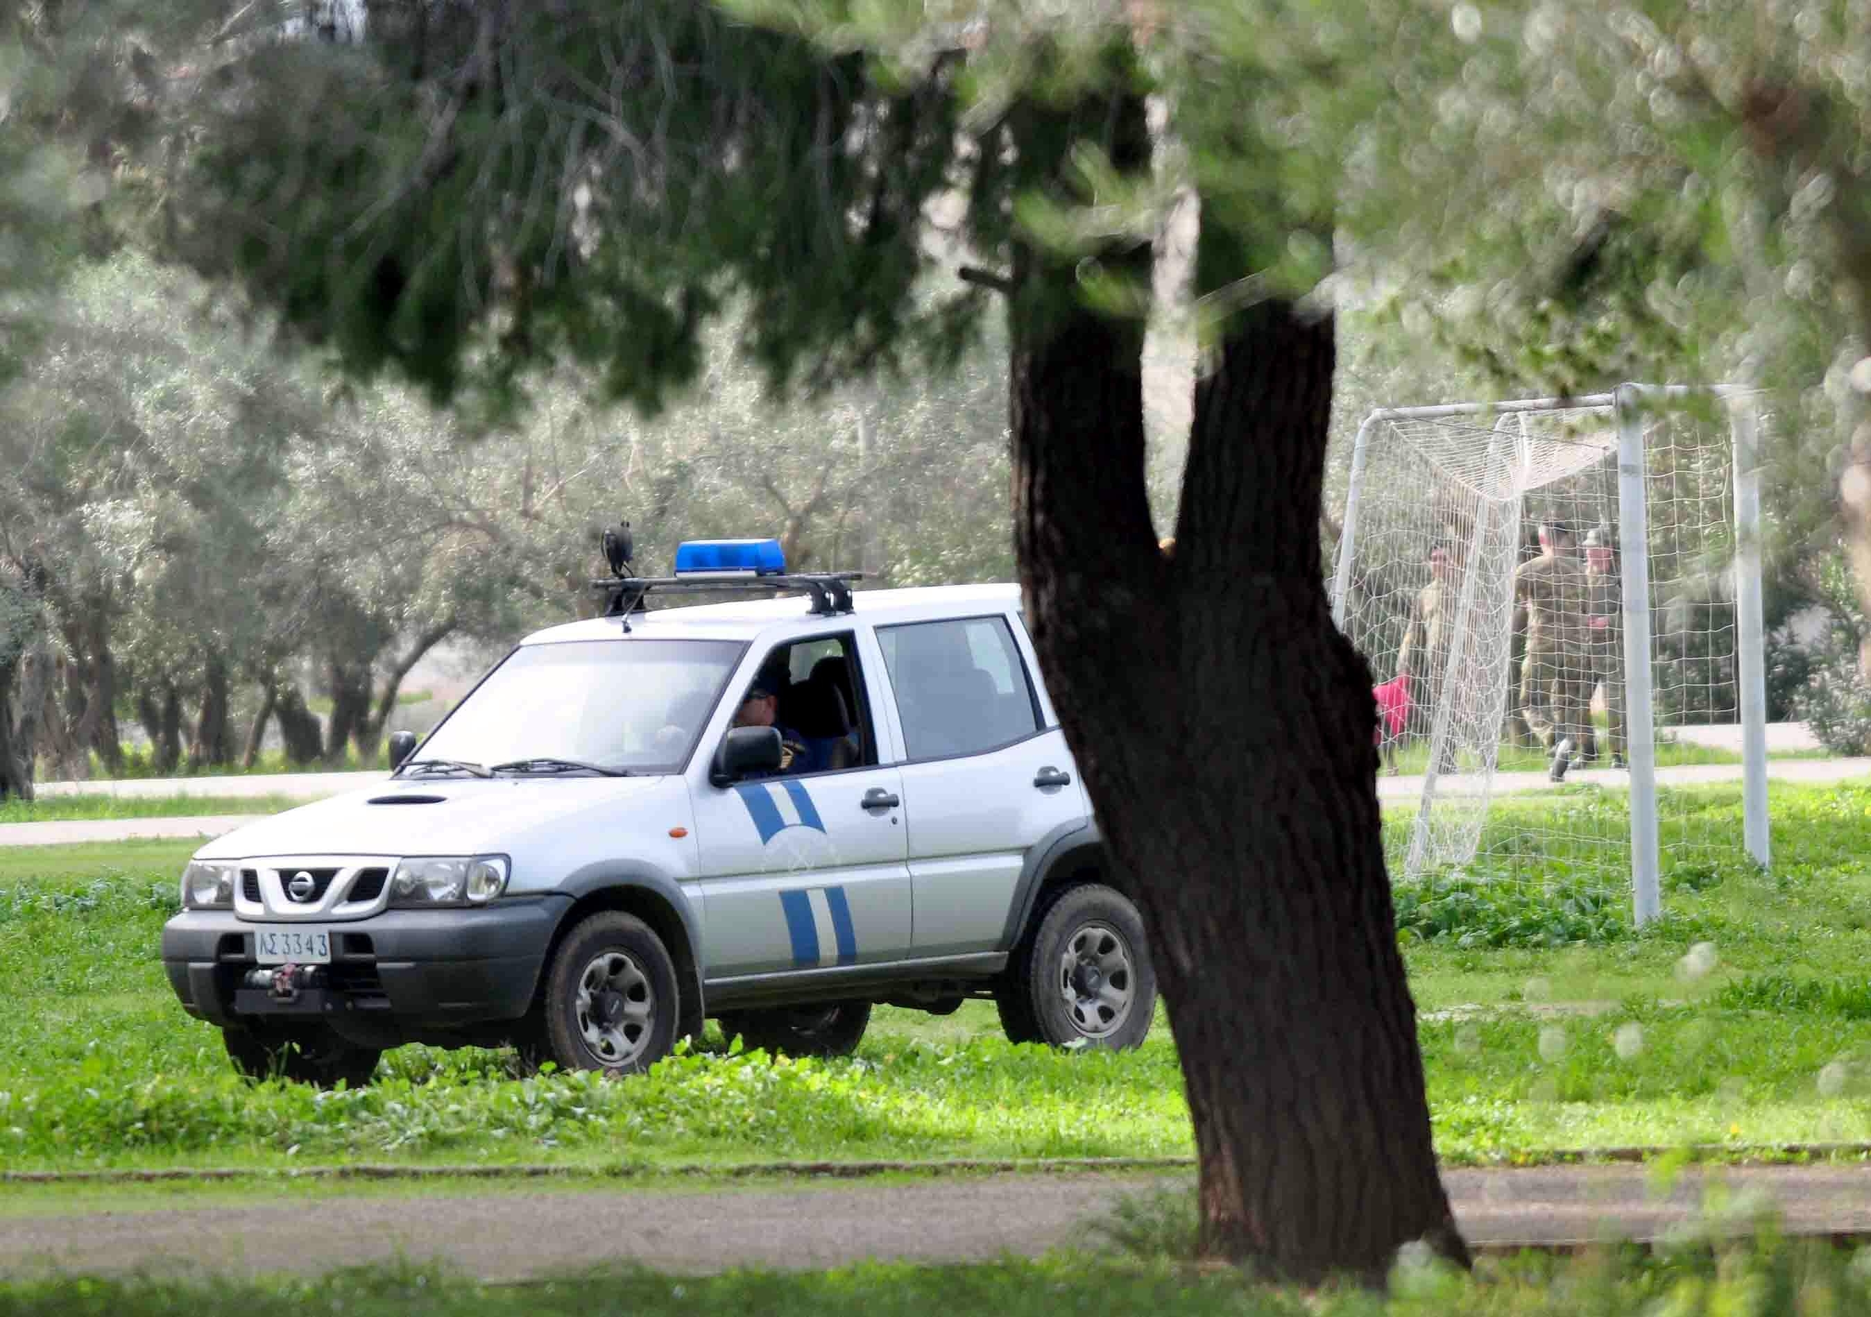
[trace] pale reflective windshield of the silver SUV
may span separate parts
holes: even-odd
[[[526,645],[447,716],[412,765],[458,760],[494,767],[559,758],[674,773],[702,735],[743,649],[733,640]]]

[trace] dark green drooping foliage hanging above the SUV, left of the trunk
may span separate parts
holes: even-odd
[[[892,359],[922,320],[950,97],[711,6],[425,9],[239,51],[178,105],[174,249],[348,370],[447,398],[567,361],[655,410],[730,297],[775,384]]]

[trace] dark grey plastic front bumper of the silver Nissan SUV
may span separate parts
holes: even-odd
[[[187,911],[163,926],[163,969],[183,1010],[223,1027],[316,1014],[339,1029],[413,1038],[524,1016],[569,905],[563,896],[522,896],[327,924],[322,984],[290,999],[245,984],[256,965],[253,924],[232,911]]]

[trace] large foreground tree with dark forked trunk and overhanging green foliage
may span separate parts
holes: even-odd
[[[1854,441],[1783,470],[1841,470],[1862,537],[1864,24],[1852,0],[378,0],[354,39],[178,75],[168,239],[350,374],[473,408],[569,361],[653,412],[730,307],[775,393],[945,369],[999,318],[1027,617],[1151,926],[1205,1244],[1379,1276],[1405,1240],[1465,1246],[1370,672],[1319,574],[1336,305],[1441,324],[1502,387],[1785,384]],[[1179,208],[1201,370],[1162,554],[1143,359]]]

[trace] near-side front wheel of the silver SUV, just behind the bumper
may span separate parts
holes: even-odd
[[[559,943],[541,1006],[543,1055],[559,1070],[640,1074],[675,1046],[675,962],[634,915],[584,919]]]

